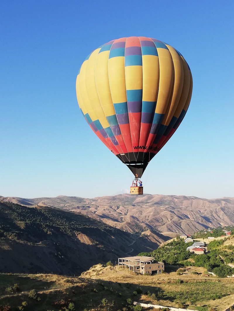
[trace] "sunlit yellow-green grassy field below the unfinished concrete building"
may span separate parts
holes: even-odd
[[[194,275],[192,272],[197,272]],[[234,293],[233,279],[219,279],[213,276],[204,276],[205,269],[201,267],[187,268],[180,276],[177,272],[163,273],[154,276],[136,275],[122,267],[95,267],[95,272],[90,269],[84,277],[101,279],[111,282],[138,285],[143,289],[138,301],[144,303],[161,304],[177,307],[178,303],[188,306],[188,302],[197,306],[212,305],[217,310],[224,310],[223,305],[232,304]],[[177,280],[182,280],[181,284]],[[144,293],[156,295],[157,300],[151,299]],[[223,297],[225,296],[225,297]],[[213,300],[215,299],[215,300]]]

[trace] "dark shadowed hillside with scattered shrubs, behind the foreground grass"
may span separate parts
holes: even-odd
[[[157,247],[80,213],[0,203],[0,272],[78,276],[93,264]]]

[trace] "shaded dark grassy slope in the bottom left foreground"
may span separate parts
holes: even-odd
[[[92,273],[103,269],[102,265],[92,268]],[[105,268],[109,270],[108,268]],[[19,284],[19,291],[11,294],[5,292],[5,288]],[[66,277],[50,274],[39,275],[19,275],[19,274],[0,274],[0,309],[1,306],[9,305],[11,310],[18,310],[22,301],[27,301],[27,310],[58,311],[67,307],[69,302],[75,304],[76,311],[97,310],[103,298],[108,299],[107,309],[116,311],[123,308],[126,299],[134,299],[133,291],[136,285],[119,284],[111,281],[102,281],[82,277]],[[38,292],[40,301],[30,299],[28,293],[35,289]],[[121,295],[119,295],[121,293]],[[61,299],[64,302],[61,302]],[[115,305],[111,306],[112,301]],[[106,309],[106,310],[107,310]],[[104,310],[104,309],[102,309]]]

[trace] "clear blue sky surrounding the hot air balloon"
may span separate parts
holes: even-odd
[[[193,95],[177,132],[148,165],[144,192],[233,197],[233,14],[233,0],[2,0],[0,195],[129,189],[132,173],[89,128],[75,82],[101,44],[147,36],[183,54]]]

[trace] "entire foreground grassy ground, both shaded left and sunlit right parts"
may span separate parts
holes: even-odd
[[[178,307],[179,303],[185,307],[189,304],[210,305],[217,311],[223,311],[233,303],[234,279],[204,276],[205,269],[200,267],[187,268],[179,276],[175,266],[170,268],[174,272],[154,276],[136,275],[125,268],[103,267],[101,264],[93,266],[78,278],[48,274],[0,274],[0,305],[9,304],[12,310],[16,310],[22,301],[27,301],[30,310],[58,311],[69,302],[74,302],[76,310],[83,311],[85,308],[96,310],[101,299],[107,298],[107,309],[116,311],[123,308],[127,298],[131,298],[174,307]],[[192,273],[195,271],[198,274]],[[182,281],[178,283],[178,279]],[[19,284],[20,291],[6,295],[5,288],[15,283]],[[142,293],[133,295],[139,287]],[[32,289],[38,291],[40,301],[28,297]],[[61,299],[64,299],[64,304],[59,303]],[[112,300],[115,301],[114,306],[111,306]]]

